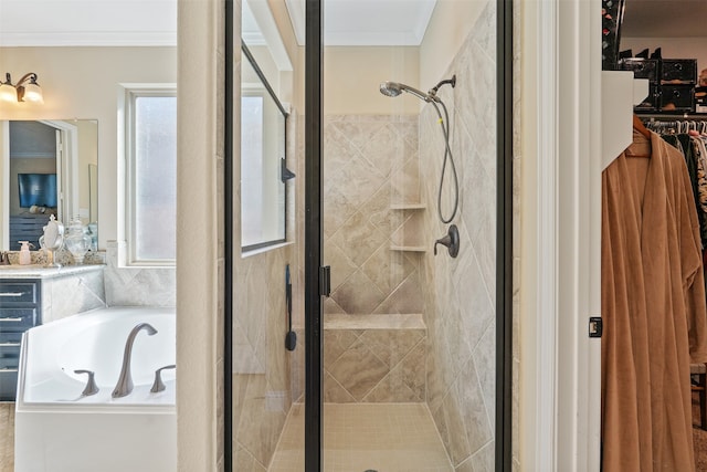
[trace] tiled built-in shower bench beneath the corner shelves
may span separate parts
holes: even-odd
[[[327,315],[324,401],[424,402],[426,340],[421,314]]]

